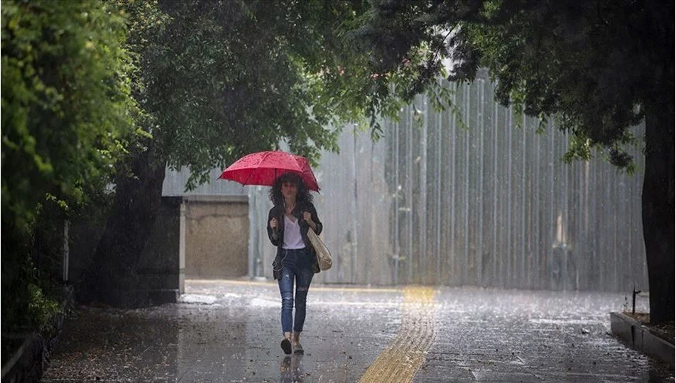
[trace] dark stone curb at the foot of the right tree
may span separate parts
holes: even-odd
[[[623,313],[610,313],[611,332],[631,348],[674,366],[674,345],[650,333],[647,327]]]

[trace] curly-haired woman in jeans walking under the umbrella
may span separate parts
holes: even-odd
[[[302,354],[300,333],[305,323],[307,291],[314,274],[320,272],[307,231],[322,233],[322,222],[317,217],[310,191],[298,174],[280,176],[270,191],[270,199],[274,206],[268,213],[268,237],[277,246],[277,256],[272,265],[282,297],[284,338],[281,347],[285,354],[292,351]],[[295,317],[292,315],[294,304]]]

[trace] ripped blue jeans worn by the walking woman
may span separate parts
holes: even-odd
[[[307,300],[307,291],[310,289],[312,277],[312,252],[305,249],[288,250],[282,249],[282,275],[278,280],[279,293],[282,296],[282,332],[291,332],[291,323],[293,321],[293,331],[300,333],[302,325],[305,323],[305,303]],[[295,317],[292,316],[294,294],[293,286],[295,282]]]

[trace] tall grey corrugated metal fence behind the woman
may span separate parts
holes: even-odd
[[[639,148],[633,176],[601,159],[567,165],[567,136],[535,133],[533,118],[519,128],[490,82],[460,85],[454,102],[464,123],[420,98],[377,143],[346,128],[341,153],[322,155],[315,204],[334,268],[315,281],[647,288]],[[249,194],[250,272],[269,277],[268,188],[227,188]]]

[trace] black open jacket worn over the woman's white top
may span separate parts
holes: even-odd
[[[319,262],[317,262],[315,248],[312,247],[310,240],[307,238],[307,231],[312,229],[310,229],[310,225],[308,225],[307,222],[302,219],[302,213],[304,211],[308,211],[312,215],[312,221],[314,221],[315,225],[317,225],[317,235],[322,233],[322,228],[324,228],[324,226],[322,226],[322,221],[320,221],[320,218],[317,216],[317,209],[315,209],[315,205],[312,203],[307,202],[304,204],[298,204],[295,209],[293,209],[293,216],[298,219],[298,226],[300,226],[300,236],[302,237],[302,242],[305,243],[305,247],[310,249],[310,252],[312,252],[312,271],[317,274],[320,272],[320,265]],[[272,218],[277,218],[277,233],[274,233],[270,227],[270,220]],[[280,279],[282,274],[282,267],[280,265],[281,253],[282,245],[284,244],[284,206],[273,206],[273,208],[270,209],[268,212],[267,226],[268,238],[270,238],[270,242],[273,245],[277,246],[277,255],[275,260],[272,262],[273,277],[275,277],[275,279]]]

